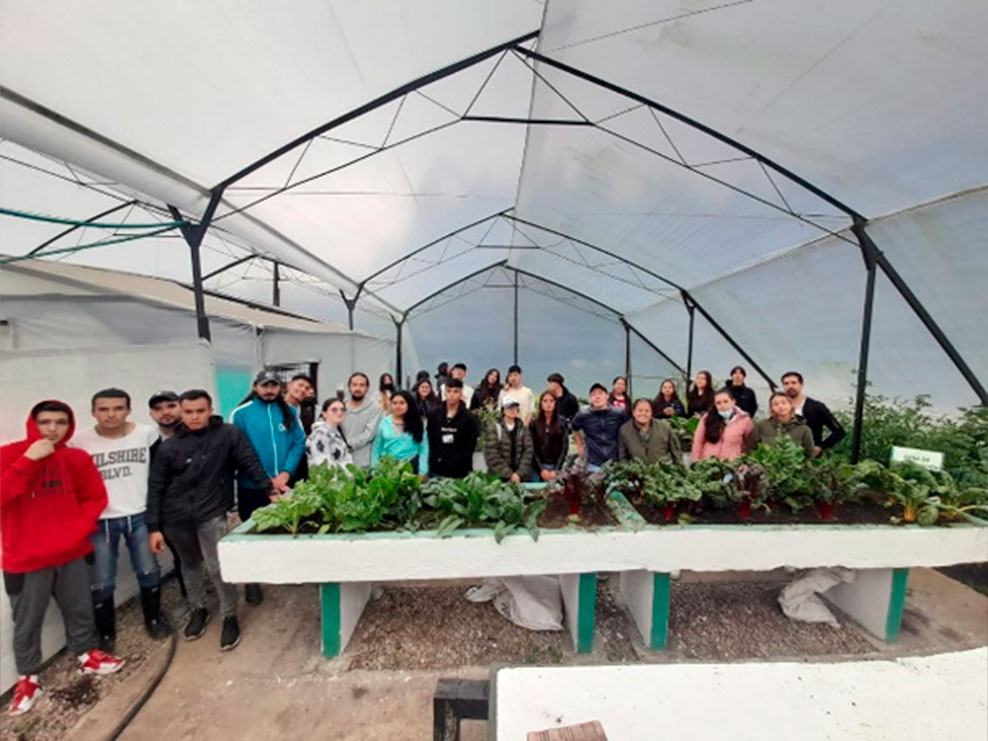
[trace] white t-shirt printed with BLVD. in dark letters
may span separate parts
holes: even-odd
[[[158,430],[141,424],[124,437],[103,437],[95,427],[86,427],[72,438],[72,447],[89,453],[106,485],[109,502],[101,520],[147,509],[151,446],[157,440]]]

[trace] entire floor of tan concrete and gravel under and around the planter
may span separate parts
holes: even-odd
[[[199,641],[178,642],[167,675],[121,738],[427,739],[439,677],[486,679],[502,665],[818,661],[988,645],[988,598],[939,572],[911,572],[902,636],[891,646],[841,615],[840,629],[789,621],[775,600],[790,578],[783,571],[684,572],[672,589],[669,648],[659,653],[642,644],[615,593],[617,579],[601,581],[589,655],[575,654],[565,634],[530,633],[492,604],[468,602],[469,583],[385,585],[334,660],[319,654],[315,587],[266,587],[262,605],[242,603],[244,636],[235,651],[219,650],[218,620]],[[176,594],[169,583],[166,603]],[[106,738],[168,647],[144,636],[134,603],[119,622],[125,672],[80,681],[69,659],[57,658],[42,675],[48,695],[28,715],[0,719],[0,740]],[[486,724],[465,722],[462,738],[486,738]]]

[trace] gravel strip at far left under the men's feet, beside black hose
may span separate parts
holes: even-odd
[[[168,579],[163,587],[162,612],[178,604],[178,583]],[[93,677],[79,674],[78,662],[64,651],[59,653],[41,672],[45,694],[26,715],[11,718],[0,716],[0,741],[56,741],[62,738],[79,719],[113,688],[127,682],[138,668],[167,650],[168,641],[155,641],[144,630],[144,618],[137,599],[117,610],[117,656],[127,663],[116,674]],[[13,696],[13,690],[0,701],[3,710]]]

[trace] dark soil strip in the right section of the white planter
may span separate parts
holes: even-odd
[[[681,510],[677,509],[671,520],[666,519],[666,510],[647,502],[632,503],[639,514],[652,525],[677,524]],[[780,509],[766,512],[764,509],[752,509],[751,517],[744,519],[737,509],[705,509],[688,512],[690,521],[694,524],[707,525],[888,525],[893,510],[875,504],[841,504],[833,515],[824,520],[815,507],[806,507],[797,513],[789,511],[786,505]]]

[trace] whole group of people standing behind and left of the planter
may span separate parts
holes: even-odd
[[[668,421],[673,417],[699,417],[694,461],[735,458],[783,435],[815,456],[844,436],[827,407],[806,397],[803,377],[794,371],[783,375],[769,416],[757,423],[757,400],[741,367],[716,392],[710,373],[700,371],[685,406],[671,379],[654,399],[632,400],[627,379],[618,377],[610,389],[593,384],[585,409],[559,373],[548,376],[538,397],[517,365],[503,384],[495,368],[476,388],[465,382],[466,373],[463,363],[440,367],[436,388],[423,371],[411,391],[396,388],[385,373],[374,393],[358,371],[347,381],[349,395],[326,399],[317,415],[313,379],[299,374],[283,383],[276,372],[262,370],[229,422],[214,413],[203,389],[153,394],[153,425],[130,419],[126,391],[103,389],[92,397],[95,424],[78,432],[67,404],[36,404],[25,439],[0,448],[2,567],[19,675],[10,712],[27,712],[41,694],[41,629],[52,596],[83,672],[108,674],[123,665],[113,655],[121,541],[148,633],[160,639],[172,631],[161,611],[156,559],[168,548],[182,592],[184,609],[174,617],[185,619],[183,637],[195,640],[206,631],[208,577],[219,599],[220,648],[230,650],[241,637],[238,593],[220,576],[217,544],[235,506],[246,521],[313,466],[368,467],[384,456],[408,461],[423,477],[462,478],[473,470],[481,409],[493,417],[483,430],[487,469],[514,482],[555,479],[571,437],[591,471],[611,460],[681,464],[679,438]],[[247,585],[245,599],[260,604],[260,585]]]

